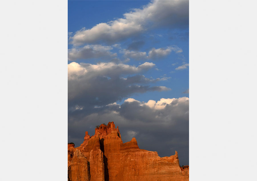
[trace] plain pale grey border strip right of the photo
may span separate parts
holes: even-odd
[[[189,1],[189,180],[256,180],[256,1]]]

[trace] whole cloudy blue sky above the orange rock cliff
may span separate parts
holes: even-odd
[[[189,164],[188,1],[68,1],[68,142],[114,122],[123,143]]]

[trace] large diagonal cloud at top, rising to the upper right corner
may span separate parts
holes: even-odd
[[[71,43],[113,43],[156,27],[187,28],[188,15],[188,1],[152,1],[142,9],[123,14],[124,18],[77,31]]]

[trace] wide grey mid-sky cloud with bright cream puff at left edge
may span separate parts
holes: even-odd
[[[103,106],[121,100],[133,93],[168,91],[165,86],[150,86],[149,83],[163,79],[149,79],[143,73],[155,66],[144,62],[132,66],[123,63],[76,63],[68,64],[68,104],[89,107]],[[127,75],[127,78],[123,76]],[[146,84],[146,85],[145,85]]]

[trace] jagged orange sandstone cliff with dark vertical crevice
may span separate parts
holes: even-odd
[[[186,181],[189,166],[179,166],[178,153],[159,157],[138,148],[135,138],[123,143],[119,127],[101,124],[86,132],[81,146],[68,144],[68,181]]]

